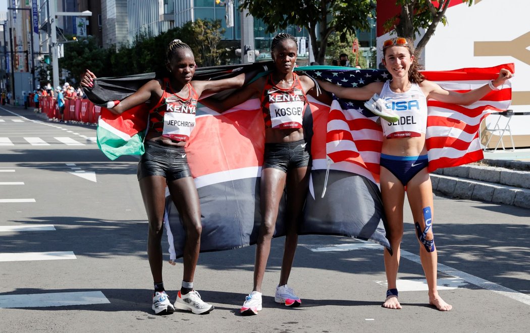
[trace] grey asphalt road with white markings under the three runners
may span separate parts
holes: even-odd
[[[381,308],[386,291],[381,247],[302,236],[289,281],[303,299],[301,308],[274,302],[284,241],[275,239],[258,316],[239,314],[252,289],[254,246],[200,255],[195,288],[215,305],[213,312],[154,316],[136,163],[135,157],[104,157],[94,126],[49,122],[31,110],[0,107],[0,332],[522,332],[530,327],[530,210],[439,196],[438,285],[452,311],[429,307],[413,224],[407,223],[399,274],[402,310]],[[405,214],[410,220],[410,212]],[[174,301],[181,262],[164,264],[164,276]]]

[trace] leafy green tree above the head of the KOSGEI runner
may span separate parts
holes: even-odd
[[[325,63],[328,38],[333,32],[345,40],[348,32],[368,30],[368,17],[372,16],[373,0],[242,0],[240,8],[261,19],[267,32],[275,33],[289,25],[303,26],[311,39],[315,60]],[[281,13],[278,10],[281,8]],[[318,34],[317,34],[318,26]]]

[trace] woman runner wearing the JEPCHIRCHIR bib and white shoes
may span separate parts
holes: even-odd
[[[202,301],[199,293],[193,290],[202,226],[199,196],[191,177],[184,146],[195,126],[195,111],[201,93],[242,87],[244,74],[222,80],[192,81],[196,69],[195,58],[190,47],[178,39],[167,47],[166,66],[171,77],[150,80],[123,101],[111,103],[115,105],[110,111],[120,114],[147,101],[154,105],[149,111],[145,154],[140,158],[137,172],[149,220],[147,256],[155,289],[152,308],[156,314],[173,312],[174,308],[196,314],[207,313],[214,309],[213,305]],[[95,78],[87,70],[81,85],[92,87]],[[182,287],[174,307],[168,299],[162,280],[161,240],[166,185],[187,233],[183,250]]]

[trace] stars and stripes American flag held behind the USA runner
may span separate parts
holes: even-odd
[[[447,90],[464,93],[497,78],[501,68],[514,73],[514,64],[422,73],[428,80]],[[386,70],[379,69],[335,70],[328,67],[323,70],[305,67],[300,70],[342,87],[361,87],[391,78]],[[482,159],[480,123],[490,112],[508,109],[510,102],[509,81],[500,91],[492,91],[480,101],[467,106],[429,100],[426,132],[429,171]],[[330,108],[326,132],[328,161],[319,163],[319,160],[314,160],[314,167],[346,170],[378,182],[383,132],[377,120],[378,116],[365,109],[364,101],[335,98]]]

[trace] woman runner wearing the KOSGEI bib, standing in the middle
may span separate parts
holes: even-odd
[[[302,218],[308,188],[311,156],[302,119],[308,107],[306,93],[315,87],[315,83],[307,76],[293,73],[297,51],[298,44],[292,35],[276,35],[271,43],[275,67],[270,75],[258,78],[223,101],[208,101],[215,109],[228,110],[250,98],[260,98],[265,121],[265,152],[260,183],[261,226],[254,263],[254,287],[246,296],[242,314],[258,314],[262,308],[261,284],[286,185],[286,238],[275,301],[288,307],[298,307],[302,303],[287,285],[287,280],[293,267],[298,221]]]

